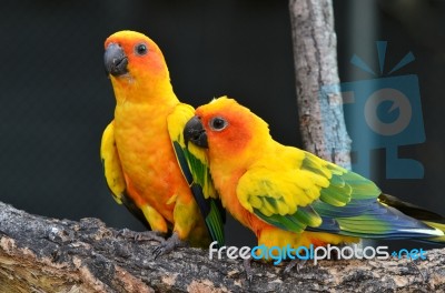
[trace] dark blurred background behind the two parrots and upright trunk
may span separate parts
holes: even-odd
[[[400,153],[422,162],[424,178],[386,179],[385,152],[375,150],[372,179],[387,193],[445,213],[445,1],[334,4],[342,81],[372,78],[349,60],[357,54],[377,68],[378,40],[388,42],[392,65],[408,51],[416,58],[395,74],[419,79],[426,141]],[[268,121],[276,140],[301,146],[287,1],[23,0],[3,1],[2,11],[0,201],[51,218],[93,216],[144,230],[109,195],[99,160],[115,107],[102,43],[122,29],[159,44],[181,101],[198,105],[228,94]],[[233,221],[227,240],[254,243]]]

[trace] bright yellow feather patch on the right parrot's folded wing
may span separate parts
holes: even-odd
[[[329,185],[332,173],[327,169],[325,175],[300,169],[304,159],[300,150],[278,148],[276,155],[259,160],[239,179],[237,196],[241,205],[270,216],[294,214],[298,206],[313,203]]]

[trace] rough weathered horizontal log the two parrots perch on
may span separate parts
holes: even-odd
[[[349,260],[284,266],[209,260],[208,251],[177,249],[154,259],[157,243],[107,228],[31,215],[0,203],[0,292],[445,292],[445,250],[426,261]]]

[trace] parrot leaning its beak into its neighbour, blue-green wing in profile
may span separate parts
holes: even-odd
[[[441,215],[382,194],[374,182],[309,152],[275,141],[267,123],[226,97],[196,109],[186,145],[208,150],[222,206],[250,229],[258,245],[294,249],[370,239],[445,242]],[[380,196],[380,198],[379,198]]]

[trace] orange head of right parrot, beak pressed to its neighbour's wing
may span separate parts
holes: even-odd
[[[267,123],[233,99],[221,97],[196,109],[185,129],[186,143],[208,149],[211,158],[241,160],[268,141]]]

